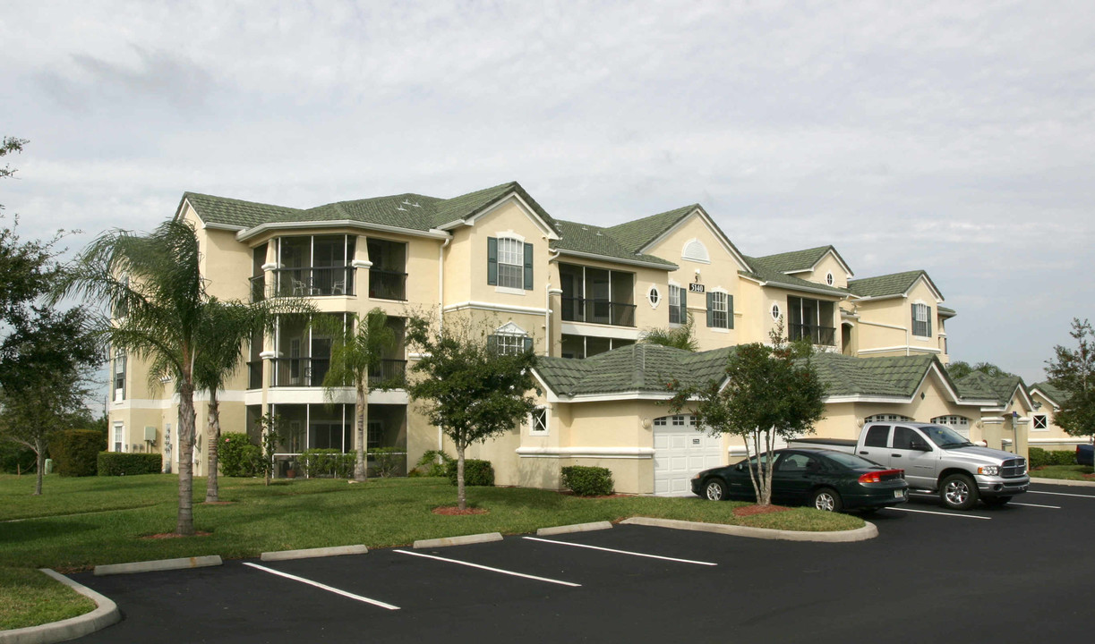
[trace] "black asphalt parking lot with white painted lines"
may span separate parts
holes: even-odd
[[[698,501],[701,502],[701,501]],[[72,575],[125,619],[80,642],[1087,639],[1095,488],[966,513],[918,499],[855,543],[641,526],[188,571]]]

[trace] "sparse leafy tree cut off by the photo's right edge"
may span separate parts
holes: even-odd
[[[1058,344],[1046,361],[1049,384],[1064,394],[1053,421],[1071,436],[1095,436],[1095,330],[1086,319],[1072,320],[1076,348]]]

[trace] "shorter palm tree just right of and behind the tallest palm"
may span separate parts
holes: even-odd
[[[206,503],[216,503],[220,500],[217,481],[217,452],[220,447],[218,391],[224,388],[224,382],[239,368],[244,342],[253,340],[258,333],[273,331],[279,314],[311,314],[314,308],[303,300],[293,297],[276,297],[251,304],[210,297],[204,308],[197,341],[201,353],[194,365],[194,384],[198,389],[209,391],[209,424],[206,431],[209,476],[206,479]],[[154,367],[151,371],[157,372]]]

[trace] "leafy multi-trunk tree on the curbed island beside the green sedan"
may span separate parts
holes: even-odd
[[[675,391],[669,402],[673,413],[691,409],[703,430],[745,441],[758,505],[772,502],[776,438],[809,434],[814,423],[825,417],[825,385],[810,361],[812,347],[808,341],[787,342],[782,324],[771,339],[771,346],[756,342],[737,347],[727,359],[725,385],[719,380],[669,384]],[[766,456],[752,461],[757,455]]]

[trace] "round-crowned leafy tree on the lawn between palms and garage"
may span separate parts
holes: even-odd
[[[457,449],[457,500],[464,510],[464,450],[514,429],[535,409],[526,394],[540,393],[532,377],[537,356],[531,348],[503,353],[470,325],[438,328],[413,317],[408,327],[407,340],[422,358],[412,367],[419,377],[407,385],[407,394],[425,402],[429,422]]]

